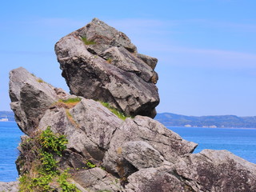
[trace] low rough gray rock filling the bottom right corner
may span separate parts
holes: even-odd
[[[138,170],[128,177],[126,192],[256,191],[256,165],[226,150],[186,154],[174,166]]]

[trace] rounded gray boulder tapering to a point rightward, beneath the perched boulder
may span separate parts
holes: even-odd
[[[103,165],[106,170],[126,177],[142,168],[174,164],[179,156],[192,153],[196,146],[160,122],[136,116],[127,118],[114,132]]]

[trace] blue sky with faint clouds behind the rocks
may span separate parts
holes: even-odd
[[[19,66],[68,90],[54,54],[66,34],[99,18],[158,58],[158,112],[256,116],[256,1],[4,1],[0,110]]]

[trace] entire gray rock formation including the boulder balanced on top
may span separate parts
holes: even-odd
[[[62,156],[55,157],[58,170],[68,169],[70,182],[81,191],[256,191],[256,165],[226,150],[192,154],[196,143],[150,118],[158,103],[150,82],[157,60],[137,54],[125,34],[94,19],[62,38],[55,51],[76,95],[23,68],[10,72],[11,107],[26,134],[19,146],[20,174],[34,169],[25,166],[27,143],[50,127],[68,140]],[[122,120],[97,100],[134,118]],[[60,191],[54,182],[50,187]]]

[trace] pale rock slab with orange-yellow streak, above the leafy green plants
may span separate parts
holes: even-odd
[[[52,108],[46,111],[38,128],[45,130],[50,126],[54,132],[65,134],[69,140],[67,148],[82,154],[85,159],[102,160],[112,134],[123,122],[91,99],[82,98],[70,110],[59,109],[58,104]]]

